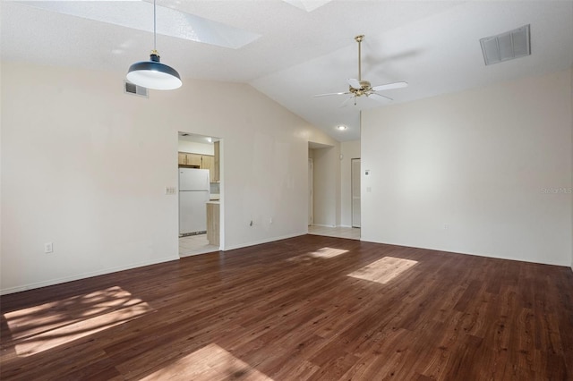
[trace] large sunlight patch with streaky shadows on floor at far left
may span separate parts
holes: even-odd
[[[152,310],[148,303],[114,286],[8,312],[4,318],[17,355],[30,356],[118,326]]]

